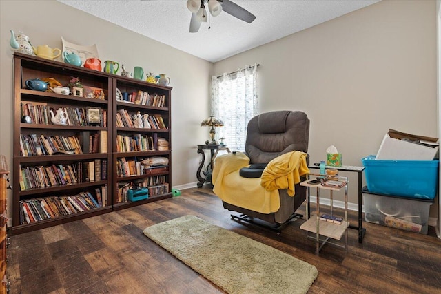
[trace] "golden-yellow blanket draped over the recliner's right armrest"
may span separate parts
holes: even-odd
[[[271,160],[263,171],[260,185],[272,191],[288,189],[288,195],[294,196],[294,185],[300,182],[300,176],[309,174],[306,154],[302,151],[292,151]]]

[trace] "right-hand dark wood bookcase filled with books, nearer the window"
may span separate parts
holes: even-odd
[[[168,198],[172,195],[172,88],[122,76],[113,82],[119,93],[112,122],[114,209]],[[136,115],[141,123],[130,119]],[[140,199],[147,189],[148,198],[132,202],[128,189],[138,189]]]

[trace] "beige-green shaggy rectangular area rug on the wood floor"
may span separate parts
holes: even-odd
[[[227,293],[307,293],[315,266],[250,238],[182,216],[144,234]]]

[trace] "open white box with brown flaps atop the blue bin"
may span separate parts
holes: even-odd
[[[408,140],[402,140],[407,138]],[[424,145],[413,143],[419,142]],[[433,160],[438,155],[438,138],[418,136],[389,129],[384,136],[377,160]]]

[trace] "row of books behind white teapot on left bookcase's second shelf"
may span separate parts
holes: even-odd
[[[66,124],[74,126],[88,126],[88,125],[99,125],[101,127],[107,126],[107,110],[99,109],[100,123],[89,123],[88,120],[88,109],[87,108],[71,108],[63,107],[64,113],[66,114]],[[57,110],[50,107],[46,103],[36,104],[34,103],[21,103],[21,117],[30,116],[32,123],[39,125],[50,125],[51,124],[51,114],[50,111],[56,113]]]

